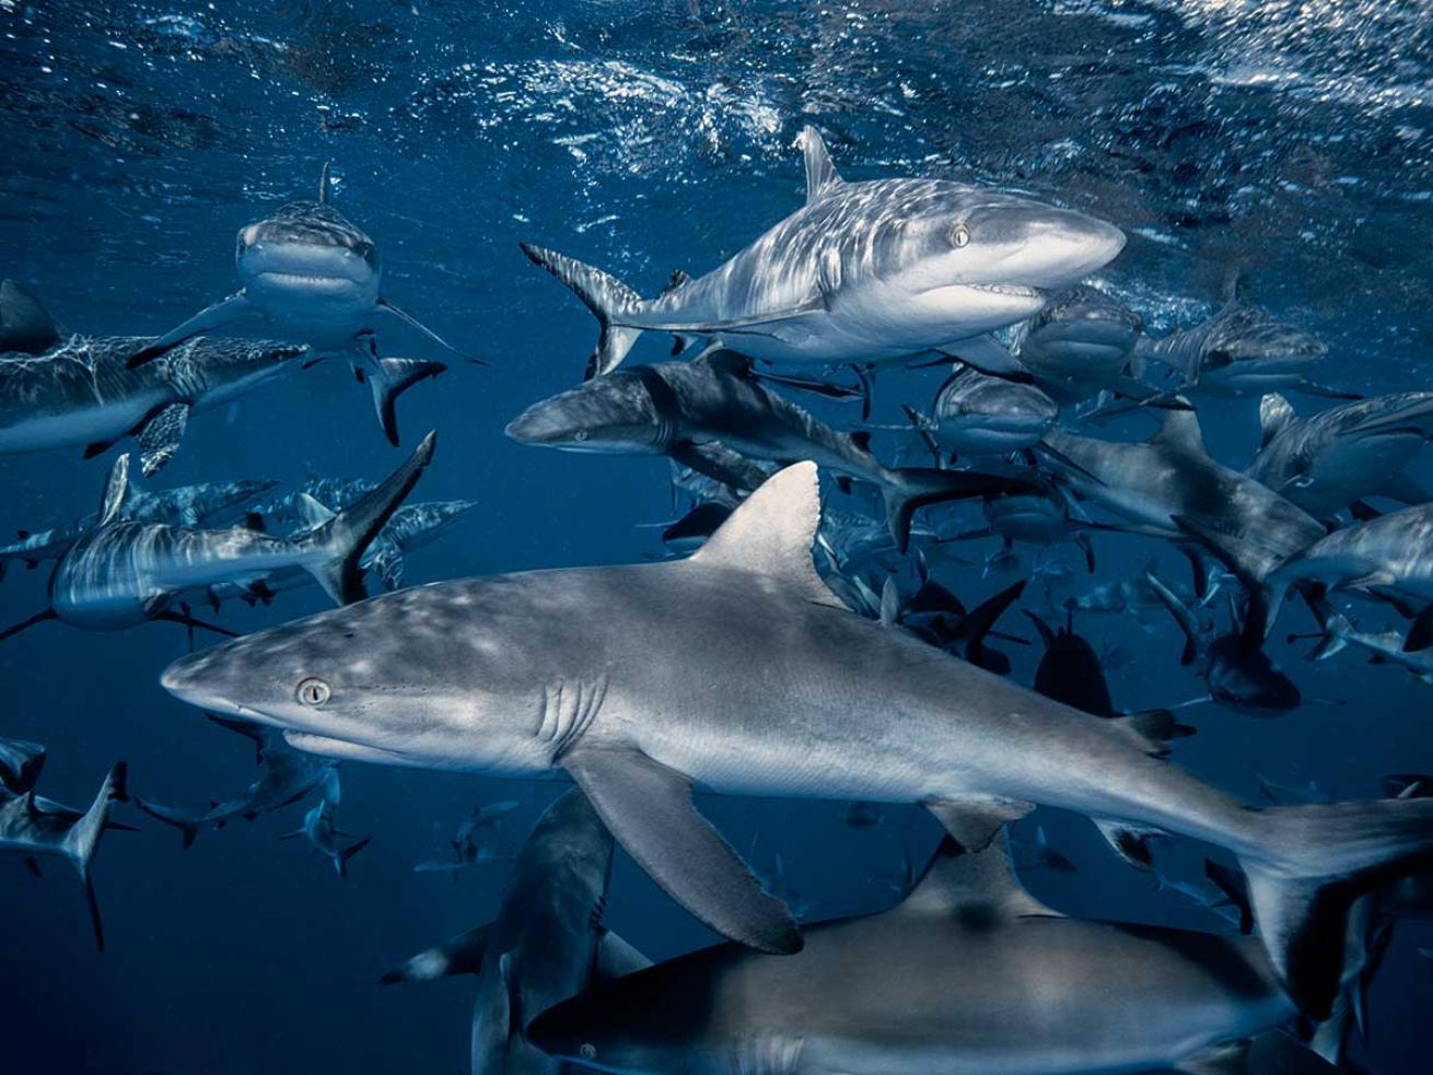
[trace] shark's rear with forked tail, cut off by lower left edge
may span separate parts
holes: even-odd
[[[90,863],[99,850],[100,837],[112,827],[110,806],[128,798],[125,774],[125,763],[115,765],[83,814],[37,797],[33,788],[23,794],[0,788],[0,853],[19,854],[36,873],[39,873],[36,860],[46,857],[64,859],[75,866],[85,883],[90,924],[100,952],[105,950],[105,927],[99,916],[99,902],[95,899]]]

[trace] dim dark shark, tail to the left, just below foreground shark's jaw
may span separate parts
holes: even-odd
[[[264,814],[299,801],[315,788],[321,790],[324,803],[338,804],[341,793],[335,761],[292,750],[282,735],[267,728],[242,721],[212,720],[215,724],[252,740],[255,758],[262,773],[241,794],[216,801],[202,811],[178,810],[136,797],[135,806],[143,813],[179,830],[185,847],[193,844],[199,830],[205,826],[222,828],[235,817],[254,821]],[[301,831],[307,833],[307,818],[305,830]]]

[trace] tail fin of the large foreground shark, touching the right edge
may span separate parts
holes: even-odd
[[[1294,1002],[1327,1019],[1354,902],[1433,863],[1433,798],[1274,807],[1255,826],[1240,864],[1270,962]]]

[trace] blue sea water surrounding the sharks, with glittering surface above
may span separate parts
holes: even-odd
[[[406,446],[440,431],[417,499],[479,502],[410,558],[407,582],[629,562],[662,552],[635,523],[669,517],[665,462],[565,456],[502,436],[524,406],[580,377],[595,335],[519,239],[643,291],[672,268],[704,271],[798,205],[792,139],[810,122],[848,178],[1016,186],[1119,224],[1131,242],[1103,280],[1156,334],[1209,312],[1237,262],[1252,301],[1328,341],[1323,380],[1424,387],[1430,16],[1424,0],[0,0],[0,271],[70,331],[159,333],[229,294],[235,231],[312,196],[331,161],[338,208],[383,249],[387,294],[492,361],[454,364],[400,403]],[[403,328],[381,343],[385,354],[441,357]],[[643,341],[636,358],[663,348]],[[877,419],[929,403],[940,378],[888,377]],[[1248,460],[1255,411],[1242,400],[1201,414],[1224,462]],[[36,529],[93,510],[109,459],[0,459],[0,519]],[[380,477],[398,459],[367,391],[325,363],[196,417],[152,484]],[[1096,546],[1093,578],[1072,549],[1060,553],[1060,593],[1128,578],[1161,553],[1132,539]],[[1176,570],[1178,558],[1161,555]],[[970,569],[946,582],[982,598],[1016,576]],[[42,608],[44,580],[43,570],[6,578],[4,621]],[[324,605],[308,589],[271,609],[226,608],[222,622],[249,631]],[[1111,671],[1118,705],[1199,692],[1176,665],[1169,622],[1092,615],[1076,626],[1125,652]],[[0,646],[0,734],[44,741],[42,790],[67,801],[87,801],[119,758],[142,796],[202,807],[234,794],[254,775],[246,744],[158,685],[185,649],[171,625],[20,635]],[[1313,666],[1301,652],[1271,645],[1308,699],[1298,712],[1192,710],[1199,734],[1178,747],[1179,764],[1251,798],[1260,778],[1370,797],[1386,773],[1429,768],[1426,685],[1353,654]],[[1012,649],[1017,679],[1029,681],[1036,654]],[[441,856],[493,798],[523,804],[499,840],[516,849],[555,787],[368,765],[345,767],[342,783],[342,827],[373,836],[347,882],[301,841],[275,841],[302,807],[205,831],[188,851],[152,821],[109,836],[96,866],[103,956],[66,870],[37,882],[0,860],[0,1069],[466,1071],[471,982],[390,989],[377,978],[492,917],[503,867],[459,883],[411,867]],[[758,867],[770,871],[780,850],[815,917],[886,906],[881,874],[936,838],[914,808],[888,808],[887,824],[860,831],[844,824],[844,804],[704,810],[738,847],[755,840]],[[1073,876],[1033,871],[1040,897],[1070,913],[1219,926],[1113,861],[1086,823],[1040,823],[1079,864]],[[655,957],[711,940],[620,856],[608,922]],[[1371,1071],[1427,1069],[1419,1016],[1433,968],[1417,949],[1429,946],[1427,923],[1399,927],[1373,989],[1371,1043],[1360,1046]]]

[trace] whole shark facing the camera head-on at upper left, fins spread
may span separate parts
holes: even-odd
[[[467,361],[443,337],[383,297],[378,247],[331,202],[328,165],[318,182],[318,201],[287,202],[271,216],[239,229],[235,267],[241,287],[153,340],[140,341],[125,355],[133,370],[171,348],[214,333],[242,314],[264,314],[318,354],[341,354],[373,390],[374,411],[384,436],[398,443],[394,403],[418,381],[437,377],[443,363],[380,358],[374,324],[393,318],[417,330],[446,351]]]

